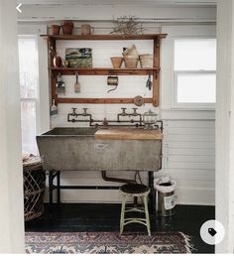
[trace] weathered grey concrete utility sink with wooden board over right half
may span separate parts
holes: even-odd
[[[124,129],[55,128],[37,136],[44,167],[48,171],[158,171],[162,133]],[[111,132],[110,137],[106,137],[107,131]],[[120,137],[116,137],[118,131]]]

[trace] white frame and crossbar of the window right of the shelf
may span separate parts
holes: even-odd
[[[187,73],[187,74],[210,74],[214,73],[217,74],[217,70],[175,70],[175,44],[176,40],[195,40],[195,39],[215,39],[215,37],[210,36],[193,36],[193,37],[174,37],[173,38],[173,86],[172,86],[172,108],[173,109],[182,109],[182,110],[215,110],[216,102],[215,103],[179,103],[177,102],[177,76],[178,74]]]

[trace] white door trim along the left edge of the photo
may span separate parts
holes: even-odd
[[[0,253],[3,254],[25,252],[16,4],[16,0],[0,1]]]

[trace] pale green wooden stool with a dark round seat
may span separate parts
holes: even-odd
[[[130,223],[140,223],[147,226],[149,236],[151,236],[151,223],[148,210],[148,194],[150,189],[142,184],[126,184],[120,188],[123,194],[121,217],[120,217],[120,235],[123,233],[124,226]],[[128,196],[140,197],[144,208],[137,206],[127,208],[126,201]],[[145,212],[146,218],[125,218],[126,212]]]

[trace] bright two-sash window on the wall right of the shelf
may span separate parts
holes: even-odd
[[[213,108],[216,102],[216,40],[175,40],[174,106]]]

